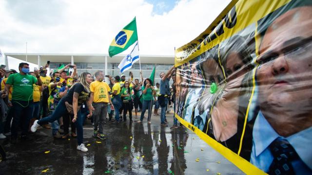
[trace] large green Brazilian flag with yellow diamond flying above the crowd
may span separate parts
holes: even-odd
[[[108,53],[110,57],[128,49],[137,41],[137,22],[136,17],[124,27],[113,39],[109,46]]]

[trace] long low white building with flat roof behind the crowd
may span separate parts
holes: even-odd
[[[121,75],[117,68],[118,64],[125,55],[115,55],[109,57],[108,54],[67,54],[67,53],[4,53],[5,65],[9,68],[8,57],[19,59],[20,62],[29,62],[40,66],[44,66],[47,61],[50,61],[50,69],[57,69],[60,65],[75,64],[77,65],[78,74],[81,72],[90,72],[94,74],[97,70],[102,70],[106,75]],[[160,72],[167,72],[174,64],[174,56],[166,55],[140,55],[141,70],[143,78],[150,77],[150,74],[156,67],[155,82],[160,81]],[[11,69],[11,68],[9,68]],[[129,72],[132,71],[134,78],[140,79],[139,62],[137,61],[130,70],[123,74],[129,78]]]

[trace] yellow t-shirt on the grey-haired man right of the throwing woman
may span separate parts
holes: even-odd
[[[93,102],[95,103],[109,103],[108,91],[111,88],[105,82],[94,81],[90,84],[90,91],[93,92]]]

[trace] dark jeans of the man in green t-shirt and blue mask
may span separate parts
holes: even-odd
[[[29,122],[33,117],[34,102],[12,100],[12,113],[13,122],[11,125],[11,135],[13,138],[17,138],[19,128],[21,127],[21,135],[28,133]]]

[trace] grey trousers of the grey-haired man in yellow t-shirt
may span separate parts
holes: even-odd
[[[98,130],[100,134],[103,134],[105,119],[107,116],[107,103],[93,103],[94,112],[93,112],[93,119],[94,119],[94,130]]]

